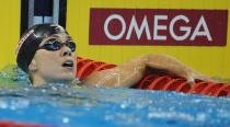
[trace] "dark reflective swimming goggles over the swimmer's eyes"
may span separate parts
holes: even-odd
[[[56,38],[48,39],[43,46],[38,47],[38,49],[59,50],[64,45],[69,47],[72,53],[76,50],[76,44],[71,39],[61,43]]]

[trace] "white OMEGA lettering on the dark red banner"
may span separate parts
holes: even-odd
[[[113,35],[108,31],[108,24],[111,23],[112,20],[118,20],[119,23],[122,24],[122,31],[117,35]],[[160,21],[163,21],[163,20],[168,20],[168,15],[154,15],[153,31],[151,31],[151,30],[149,30],[149,23],[148,23],[147,15],[143,16],[140,25],[138,25],[138,23],[137,23],[136,15],[133,15],[125,39],[127,39],[127,41],[130,39],[131,33],[133,33],[133,31],[135,31],[136,35],[137,35],[137,38],[139,41],[143,31],[145,31],[148,41],[150,41],[150,39],[166,41],[166,38],[168,38],[166,35],[159,35],[159,31],[166,31],[168,30],[168,24],[162,25],[162,23],[161,24],[159,23]],[[194,32],[192,32],[192,26],[192,26],[186,26],[185,25],[185,26],[180,26],[180,32],[183,32],[183,35],[176,35],[175,30],[174,30],[174,25],[180,20],[184,21],[187,24],[189,23],[189,19],[186,15],[176,15],[172,19],[172,21],[169,24],[169,34],[172,36],[172,38],[174,41],[188,39],[188,36],[191,34],[192,34],[192,36],[191,36],[189,41],[195,41],[195,38],[197,36],[205,36],[205,37],[207,37],[207,39],[209,42],[212,41],[212,37],[209,33],[209,28],[208,28],[207,23],[206,23],[203,15],[200,16]],[[204,28],[202,30],[202,27],[204,27]],[[105,20],[104,32],[105,32],[105,35],[112,41],[122,39],[124,34],[126,33],[126,21],[119,14],[112,14]],[[153,32],[152,37],[151,37],[151,34],[150,34],[151,32]],[[24,38],[26,38],[26,35],[24,36]],[[21,42],[23,42],[24,38],[22,38]]]

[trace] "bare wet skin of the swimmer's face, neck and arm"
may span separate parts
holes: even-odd
[[[71,39],[67,34],[55,34],[44,38],[39,46],[43,46],[47,41],[54,38],[61,43]],[[64,64],[68,61],[72,62],[72,67],[64,66]],[[198,73],[171,56],[150,54],[134,58],[116,68],[95,72],[87,77],[77,85],[129,88],[141,80],[148,69],[147,67],[165,70],[175,76],[185,78],[191,85],[194,84],[195,79],[212,81],[211,78]],[[32,71],[34,68],[36,71]],[[28,66],[28,70],[34,85],[43,85],[46,83],[70,83],[76,78],[77,55],[67,46],[62,46],[59,50],[39,49],[36,51],[31,65]]]

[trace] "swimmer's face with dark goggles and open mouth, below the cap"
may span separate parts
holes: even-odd
[[[53,47],[50,44],[54,44],[54,42],[60,44],[59,48],[50,50],[50,46]],[[69,46],[71,43],[73,41],[67,34],[55,34],[43,39],[39,44],[41,49],[36,51],[31,64],[36,67],[36,78],[33,78],[35,85],[36,82],[43,81],[44,83],[70,83],[76,78],[77,55]]]

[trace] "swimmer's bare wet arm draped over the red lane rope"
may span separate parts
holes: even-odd
[[[139,82],[147,67],[166,70],[179,77],[183,77],[194,83],[194,79],[211,80],[195,70],[186,67],[173,57],[160,54],[151,54],[126,61],[116,68],[95,72],[84,79],[81,85],[97,85],[105,88],[128,88]]]

